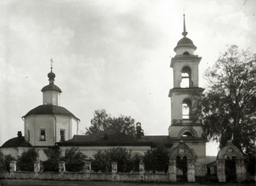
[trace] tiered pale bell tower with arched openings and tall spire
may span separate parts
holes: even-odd
[[[170,89],[171,99],[171,124],[169,128],[170,138],[202,139],[203,129],[200,121],[193,122],[192,95],[196,92],[202,94],[203,88],[198,86],[198,65],[202,57],[198,57],[194,52],[191,39],[186,37],[185,14],[183,15],[183,32],[180,41],[174,48],[175,57],[171,58],[170,68],[173,69],[173,85]]]

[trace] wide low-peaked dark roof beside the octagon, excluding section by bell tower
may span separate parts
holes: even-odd
[[[58,142],[58,145],[78,145],[78,146],[107,146],[107,145],[134,145],[151,146],[152,143],[143,139],[121,133],[114,129],[88,135],[74,135],[70,140]]]

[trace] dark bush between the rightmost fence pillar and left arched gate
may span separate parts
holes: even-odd
[[[160,145],[156,149],[147,150],[144,162],[146,171],[166,172],[169,164],[169,151]]]

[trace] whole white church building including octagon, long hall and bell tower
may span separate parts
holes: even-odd
[[[187,38],[185,16],[182,38],[174,48],[175,57],[171,58],[170,68],[173,69],[173,88],[170,89],[171,123],[168,135],[142,135],[141,124],[136,125],[136,136],[107,130],[97,134],[79,135],[80,119],[64,107],[60,106],[62,90],[54,84],[53,67],[47,74],[49,85],[42,88],[42,105],[31,109],[25,116],[24,136],[9,139],[0,148],[5,155],[20,156],[31,146],[38,150],[41,161],[47,156],[43,150],[58,145],[64,150],[78,146],[86,156],[92,157],[97,150],[108,150],[113,147],[124,147],[133,154],[144,155],[144,152],[158,145],[170,150],[170,163],[177,167],[188,165],[194,167],[196,176],[206,174],[206,142],[203,137],[200,120],[192,121],[192,95],[202,94],[199,87],[198,65],[202,57],[195,54],[197,47]],[[182,174],[182,172],[180,172]]]

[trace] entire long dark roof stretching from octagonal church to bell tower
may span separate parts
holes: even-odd
[[[124,134],[114,129],[108,129],[102,132],[88,135],[74,135],[73,139],[58,142],[60,146],[171,146],[169,136],[143,136],[141,139],[130,134]]]

